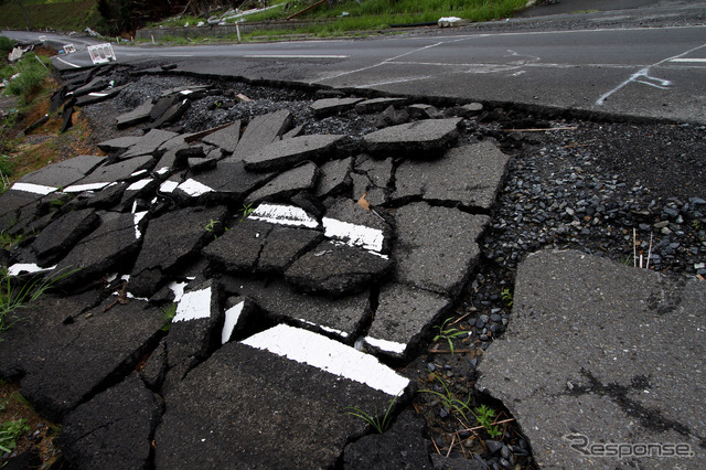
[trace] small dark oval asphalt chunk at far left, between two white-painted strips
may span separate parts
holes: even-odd
[[[84,236],[98,226],[100,218],[92,209],[74,211],[55,220],[32,243],[39,265],[49,267],[61,259]]]

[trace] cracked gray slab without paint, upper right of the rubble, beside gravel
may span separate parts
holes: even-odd
[[[449,150],[439,160],[402,162],[393,200],[422,199],[490,210],[502,186],[510,157],[492,142]]]

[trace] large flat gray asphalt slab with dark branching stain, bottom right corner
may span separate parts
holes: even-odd
[[[700,280],[539,252],[518,267],[509,331],[478,386],[512,412],[543,468],[700,469],[705,319]],[[657,457],[682,451],[694,455]]]

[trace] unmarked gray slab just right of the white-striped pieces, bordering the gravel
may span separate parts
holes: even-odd
[[[449,297],[460,293],[478,265],[477,239],[490,217],[419,202],[398,209],[395,221],[397,280]]]

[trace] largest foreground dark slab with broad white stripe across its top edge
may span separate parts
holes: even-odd
[[[279,325],[227,343],[168,397],[157,468],[328,468],[408,380],[353,348]]]

